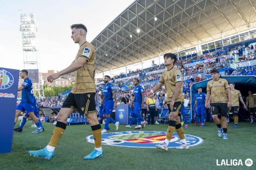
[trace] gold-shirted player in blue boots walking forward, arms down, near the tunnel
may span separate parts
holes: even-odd
[[[213,80],[207,83],[207,94],[205,107],[211,107],[211,115],[213,121],[219,128],[218,136],[222,136],[223,130],[223,139],[228,139],[227,135],[227,116],[228,108],[231,107],[231,92],[227,80],[219,77],[219,71],[217,69],[211,70],[211,76]],[[211,95],[211,106],[209,104],[209,97]],[[222,126],[220,120],[218,119],[218,113],[221,116]]]

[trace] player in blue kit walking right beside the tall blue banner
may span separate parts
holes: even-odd
[[[26,110],[27,116],[31,117],[36,124],[37,129],[32,133],[40,133],[43,131],[39,119],[35,116],[35,97],[33,95],[33,84],[32,81],[28,78],[28,71],[21,70],[20,77],[24,79],[21,87],[18,88],[18,91],[21,91],[21,103],[16,107],[16,114],[14,120],[14,126],[17,122],[17,118],[21,112]]]

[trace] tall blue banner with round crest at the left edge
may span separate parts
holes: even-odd
[[[0,153],[12,151],[19,70],[0,67]]]

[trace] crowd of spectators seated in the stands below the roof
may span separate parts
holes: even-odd
[[[256,58],[256,51],[253,45],[251,47],[236,46],[233,49],[220,49],[208,54],[202,54],[201,56],[195,56],[188,59],[178,60],[175,66],[181,70],[183,75],[183,94],[185,99],[190,99],[190,87],[195,82],[200,82],[211,78],[209,74],[213,68],[229,68],[235,59],[236,64],[253,60]],[[250,50],[248,53],[243,53],[245,50]],[[190,63],[194,63],[191,65]],[[188,66],[190,64],[190,66]],[[116,87],[117,102],[118,104],[124,103],[124,100],[129,99],[133,94],[133,80],[138,78],[140,83],[144,87],[145,95],[157,84],[161,73],[164,71],[164,64],[145,68],[143,70],[136,69],[135,71],[129,71],[127,75],[121,73],[112,78],[112,84]],[[204,73],[204,76],[202,75]],[[255,75],[256,71],[253,70],[253,66],[249,68],[239,68],[233,72],[227,71],[225,75]],[[95,101],[99,101],[99,92],[102,90],[104,82],[97,82],[97,93],[95,95]],[[166,92],[164,87],[159,89],[157,96],[161,98],[161,103],[164,105],[164,96]],[[43,107],[61,106],[65,100],[65,97],[59,95],[58,97],[45,97],[38,99],[38,105]],[[17,104],[19,100],[17,100]]]

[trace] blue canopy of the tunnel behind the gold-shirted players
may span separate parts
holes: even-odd
[[[228,81],[228,83],[235,83],[235,89],[240,90],[241,95],[244,97],[248,96],[248,90],[251,90],[253,93],[256,92],[256,76],[221,76]],[[192,111],[194,109],[195,104],[195,93],[197,93],[197,88],[202,87],[202,91],[206,93],[207,83],[212,80],[204,80],[202,82],[197,82],[191,85],[190,97],[191,97],[191,105],[190,105],[190,117],[192,118]],[[246,101],[244,100],[246,103]]]

